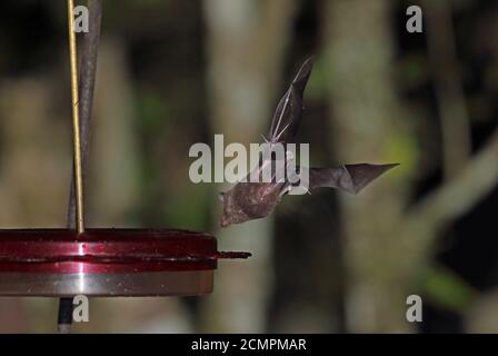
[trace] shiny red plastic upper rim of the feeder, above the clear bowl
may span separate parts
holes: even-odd
[[[216,269],[216,238],[171,229],[0,230],[0,273],[148,273]]]

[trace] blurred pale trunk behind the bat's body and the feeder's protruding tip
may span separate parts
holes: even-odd
[[[226,145],[259,142],[276,103],[296,1],[207,0],[203,7],[212,131],[223,134]],[[220,204],[212,201],[218,224]],[[271,225],[271,219],[257,220],[217,234],[220,249],[245,249],[253,256],[218,273],[205,318],[209,330],[265,330]]]

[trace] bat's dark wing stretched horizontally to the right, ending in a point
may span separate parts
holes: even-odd
[[[342,165],[337,168],[309,168],[308,190],[319,187],[329,187],[346,190],[351,194],[358,194],[372,180],[396,166],[398,166],[398,164],[358,164]]]

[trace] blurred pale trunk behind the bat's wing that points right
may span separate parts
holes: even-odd
[[[399,160],[401,157],[390,156],[406,135],[405,116],[391,82],[390,1],[335,0],[326,4],[337,157],[341,162]],[[394,229],[407,204],[399,171],[379,179],[359,196],[341,194],[340,202],[348,330],[408,330],[404,266],[409,251]]]

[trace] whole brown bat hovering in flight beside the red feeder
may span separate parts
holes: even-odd
[[[295,141],[302,113],[302,95],[311,73],[313,60],[309,58],[299,69],[289,89],[280,99],[271,121],[269,138],[265,139],[268,145],[286,145]],[[286,151],[287,152],[287,151]],[[231,224],[259,219],[268,216],[280,199],[305,184],[309,190],[319,187],[341,189],[351,194],[358,194],[368,184],[378,178],[387,170],[397,166],[390,165],[342,165],[336,168],[307,168],[297,167],[299,177],[307,177],[309,181],[296,184],[289,176],[278,175],[280,170],[287,169],[288,160],[292,155],[286,156],[283,161],[278,161],[271,156],[260,155],[259,165],[250,174],[250,177],[261,178],[263,169],[271,167],[276,172],[273,177],[286,177],[285,179],[243,179],[233,188],[220,194],[223,204],[220,225],[227,227]],[[306,170],[306,175],[300,175]]]

